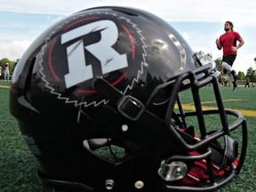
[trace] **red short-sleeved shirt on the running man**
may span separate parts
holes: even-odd
[[[223,47],[223,57],[226,57],[228,54],[236,55],[236,52],[231,51],[231,47],[236,46],[236,41],[240,38],[241,36],[236,31],[229,31],[220,36],[219,40]]]

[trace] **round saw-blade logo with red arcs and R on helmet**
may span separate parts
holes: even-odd
[[[145,36],[137,20],[117,12],[78,13],[58,23],[39,55],[44,86],[65,103],[84,108],[108,103],[93,88],[102,77],[120,92],[148,68]]]

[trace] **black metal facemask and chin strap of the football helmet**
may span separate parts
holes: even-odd
[[[103,79],[98,79],[94,83],[96,90],[103,93],[104,97],[107,97],[110,101],[114,101],[113,103],[117,105],[117,108],[124,108],[125,112],[120,110],[119,112],[129,120],[141,121],[148,126],[152,126],[152,124],[156,126],[156,124],[158,124],[159,132],[161,132],[162,129],[169,132],[169,144],[173,145],[174,142],[174,144],[177,145],[176,148],[180,148],[178,155],[173,155],[172,151],[170,156],[163,156],[162,163],[158,170],[159,176],[169,183],[166,185],[169,189],[174,190],[180,188],[180,186],[173,185],[173,182],[180,182],[180,184],[185,186],[188,184],[196,184],[195,181],[188,179],[188,175],[192,177],[189,173],[195,172],[195,164],[201,164],[202,162],[204,164],[205,177],[204,179],[199,178],[198,180],[210,183],[204,186],[204,190],[212,190],[213,185],[217,185],[217,188],[220,188],[224,183],[228,182],[228,180],[231,180],[237,172],[240,172],[244,163],[247,142],[246,124],[244,124],[244,120],[241,118],[242,116],[240,114],[235,111],[225,110],[216,78],[218,72],[211,70],[211,68],[212,64],[204,65],[198,68],[195,73],[184,73],[180,76],[173,77],[164,84],[158,85],[149,97],[145,107],[139,100],[132,98],[132,96],[127,98],[125,95],[122,96],[121,93],[117,93],[116,88],[111,87],[111,85]],[[202,77],[196,79],[196,76]],[[200,99],[200,89],[207,85],[213,88],[212,94],[217,100],[216,109],[203,109]],[[180,94],[182,94],[182,92],[187,92],[188,94],[189,90],[194,101],[193,106],[195,111],[184,110],[181,103],[182,96],[180,97]],[[111,93],[108,95],[104,92]],[[119,96],[117,96],[117,98],[119,98],[118,100],[112,100],[113,97],[110,95],[115,95],[114,92],[119,94]],[[124,103],[129,104],[125,106],[126,104]],[[150,109],[152,108],[154,108],[154,110],[151,112]],[[158,108],[158,110],[156,108]],[[129,116],[129,110],[132,111],[132,116],[136,116],[136,119]],[[134,111],[136,115],[134,115]],[[138,111],[138,113],[136,111]],[[158,113],[156,113],[156,111],[158,111]],[[228,124],[228,115],[237,118],[235,123],[231,125]],[[207,119],[205,116],[216,118],[216,122],[219,122],[219,124],[209,126],[210,124],[207,124],[209,120],[205,120]],[[189,125],[188,118],[193,119],[192,124],[196,123],[197,125]],[[148,119],[151,119],[149,124],[146,122]],[[243,126],[243,145],[240,151],[240,158],[238,158],[238,144],[236,140],[230,137],[230,132],[235,131],[236,128],[241,125]],[[165,140],[164,144],[168,145],[168,140]],[[174,151],[174,154],[175,153],[177,153],[177,151]],[[217,180],[219,181],[217,182]],[[170,184],[170,182],[172,184]],[[182,188],[184,191],[191,189],[199,190],[199,188],[196,187],[189,189],[187,187]]]

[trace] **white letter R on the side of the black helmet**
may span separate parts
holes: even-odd
[[[84,46],[82,40],[67,47],[68,74],[65,75],[66,87],[69,88],[93,77],[92,65],[86,63],[84,49],[91,52],[100,60],[102,74],[126,68],[128,66],[126,54],[119,54],[111,46],[116,43],[118,30],[111,20],[100,20],[68,31],[61,36],[61,44],[65,44],[79,36],[100,31],[100,41]],[[76,64],[76,65],[75,65]]]

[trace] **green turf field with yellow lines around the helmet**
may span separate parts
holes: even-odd
[[[23,141],[15,119],[9,112],[9,82],[0,81],[0,191],[1,192],[53,192],[53,188],[44,187],[36,178],[36,160]],[[232,92],[230,87],[220,87],[222,99],[226,108],[240,111],[246,118],[248,126],[247,156],[242,172],[236,180],[229,183],[220,191],[256,191],[256,88],[241,87]],[[212,92],[205,87],[201,92],[204,108],[211,108]],[[186,108],[191,107],[191,99],[182,95]],[[214,124],[211,122],[210,124]]]

